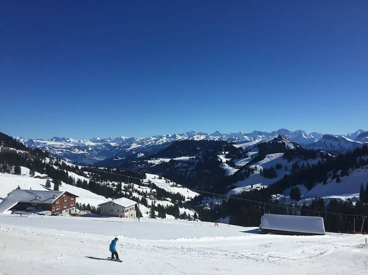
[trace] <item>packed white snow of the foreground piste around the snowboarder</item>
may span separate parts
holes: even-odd
[[[0,215],[0,271],[19,275],[367,274],[363,235],[259,235],[183,220]],[[107,261],[119,237],[123,263]]]

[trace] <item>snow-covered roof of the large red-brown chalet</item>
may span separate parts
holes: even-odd
[[[0,203],[0,213],[6,212],[17,203],[52,204],[64,193],[65,191],[15,189],[7,194],[7,197]],[[38,197],[38,199],[36,199],[36,197]]]

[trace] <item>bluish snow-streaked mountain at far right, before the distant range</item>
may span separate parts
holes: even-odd
[[[355,141],[346,137],[324,135],[320,140],[307,145],[306,148],[331,151],[334,153],[346,153],[349,150],[362,147],[364,144],[364,142]]]

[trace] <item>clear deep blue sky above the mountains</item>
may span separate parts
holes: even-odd
[[[368,129],[368,1],[1,1],[0,132]]]

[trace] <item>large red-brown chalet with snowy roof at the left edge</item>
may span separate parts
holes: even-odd
[[[15,189],[0,203],[0,213],[25,211],[40,215],[69,216],[76,213],[77,198],[66,191]]]

